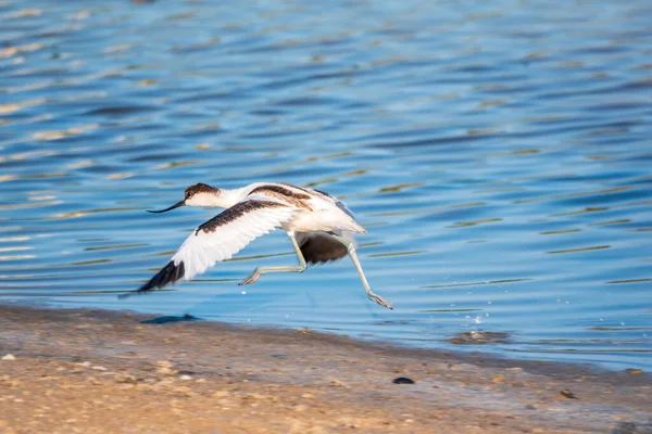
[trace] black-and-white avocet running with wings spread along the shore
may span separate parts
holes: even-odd
[[[143,294],[179,280],[190,280],[218,261],[230,259],[251,241],[275,229],[287,232],[298,265],[258,267],[239,284],[251,284],[269,272],[303,272],[308,264],[327,263],[349,256],[369,301],[393,309],[372,291],[356,254],[356,233],[367,231],[355,221],[347,205],[330,194],[286,182],[254,182],[239,189],[218,189],[196,183],[176,204],[149,213],[166,213],[181,206],[220,207],[223,212],[198,226],[170,261],[125,298]]]

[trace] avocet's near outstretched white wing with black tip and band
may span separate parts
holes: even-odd
[[[296,208],[272,201],[247,200],[223,210],[198,227],[170,263],[137,291],[143,293],[178,280],[190,280],[247,244],[292,219]]]

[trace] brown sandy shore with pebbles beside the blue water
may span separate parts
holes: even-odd
[[[652,433],[641,371],[151,318],[0,306],[0,433]]]

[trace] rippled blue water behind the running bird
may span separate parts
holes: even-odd
[[[645,0],[0,1],[0,301],[650,369],[650,23]],[[145,209],[259,180],[346,200],[396,310],[348,260],[238,286],[294,264],[283,233],[116,299],[213,215]]]

